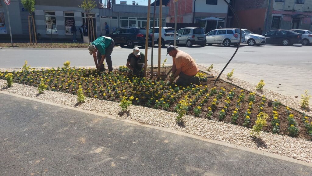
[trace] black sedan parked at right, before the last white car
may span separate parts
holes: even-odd
[[[271,30],[265,34],[266,44],[282,44],[284,46],[301,43],[302,34],[290,30]]]

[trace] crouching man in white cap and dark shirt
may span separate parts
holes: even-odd
[[[134,75],[143,77],[142,68],[144,68],[144,64],[145,55],[140,52],[138,47],[133,48],[133,52],[129,54],[127,59],[127,67],[132,70]]]

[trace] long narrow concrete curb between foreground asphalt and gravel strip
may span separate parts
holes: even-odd
[[[39,100],[39,99],[36,99],[36,98],[25,97],[25,96],[13,94],[13,93],[8,93],[8,92],[5,92],[5,91],[0,91],[0,93],[11,95],[11,96],[15,96],[15,97],[18,97],[18,98],[24,98],[24,99],[32,100],[32,101],[35,101],[35,102],[49,104],[49,105],[52,105],[52,106],[58,106],[58,107],[61,107],[61,108],[67,108],[67,109],[79,111],[79,112],[82,112],[82,113],[89,113],[89,114],[97,115],[97,116],[104,117],[104,118],[110,118],[110,119],[114,119],[114,120],[119,120],[119,121],[126,122],[126,123],[132,123],[132,124],[144,126],[144,127],[147,127],[147,128],[153,128],[153,129],[161,130],[161,131],[168,132],[168,133],[174,133],[174,134],[178,134],[178,135],[181,135],[181,136],[186,136],[186,137],[189,137],[189,138],[195,138],[195,139],[198,139],[198,140],[206,141],[206,142],[209,142],[209,143],[214,143],[214,144],[218,144],[218,145],[222,145],[222,146],[226,146],[226,147],[230,147],[230,148],[236,148],[236,149],[243,150],[243,151],[246,151],[246,152],[256,153],[256,154],[260,154],[260,155],[264,155],[264,156],[277,158],[277,159],[281,159],[281,160],[284,160],[284,161],[288,161],[288,162],[292,162],[292,163],[298,163],[298,164],[302,164],[302,165],[305,165],[305,166],[312,167],[312,163],[307,163],[305,161],[297,160],[297,159],[294,159],[294,158],[289,158],[289,157],[286,157],[286,156],[281,156],[281,155],[278,155],[278,154],[263,152],[261,150],[257,150],[257,149],[253,149],[253,148],[247,148],[247,147],[238,146],[238,145],[234,145],[234,144],[230,144],[230,143],[226,143],[226,142],[221,142],[221,141],[217,141],[217,140],[203,138],[203,137],[196,136],[196,135],[193,135],[193,134],[179,132],[179,131],[175,131],[175,130],[164,128],[164,127],[158,127],[158,126],[149,125],[149,124],[145,124],[145,123],[140,123],[140,122],[136,122],[136,121],[131,121],[131,120],[128,120],[128,119],[119,118],[119,117],[115,117],[115,116],[111,116],[111,115],[106,115],[106,114],[101,114],[101,113],[96,113],[96,112],[92,112],[92,111],[87,111],[87,110],[84,110],[84,109],[74,108],[74,107],[70,107],[70,106],[66,106],[66,105],[51,103],[51,102],[48,102],[48,101]]]

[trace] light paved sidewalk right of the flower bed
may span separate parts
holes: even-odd
[[[209,67],[211,63],[200,65]],[[213,69],[220,72],[225,65],[226,63],[213,63]],[[264,88],[294,99],[300,100],[301,94],[304,94],[305,90],[308,90],[310,94],[312,93],[311,70],[261,64],[230,63],[223,73],[227,74],[233,68],[233,77],[253,84],[258,84],[263,79],[264,83],[266,83]],[[298,98],[295,98],[295,96],[298,96]],[[310,98],[310,100],[312,99]]]

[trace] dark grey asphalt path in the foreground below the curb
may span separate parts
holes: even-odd
[[[312,167],[0,93],[2,176],[302,176]]]

